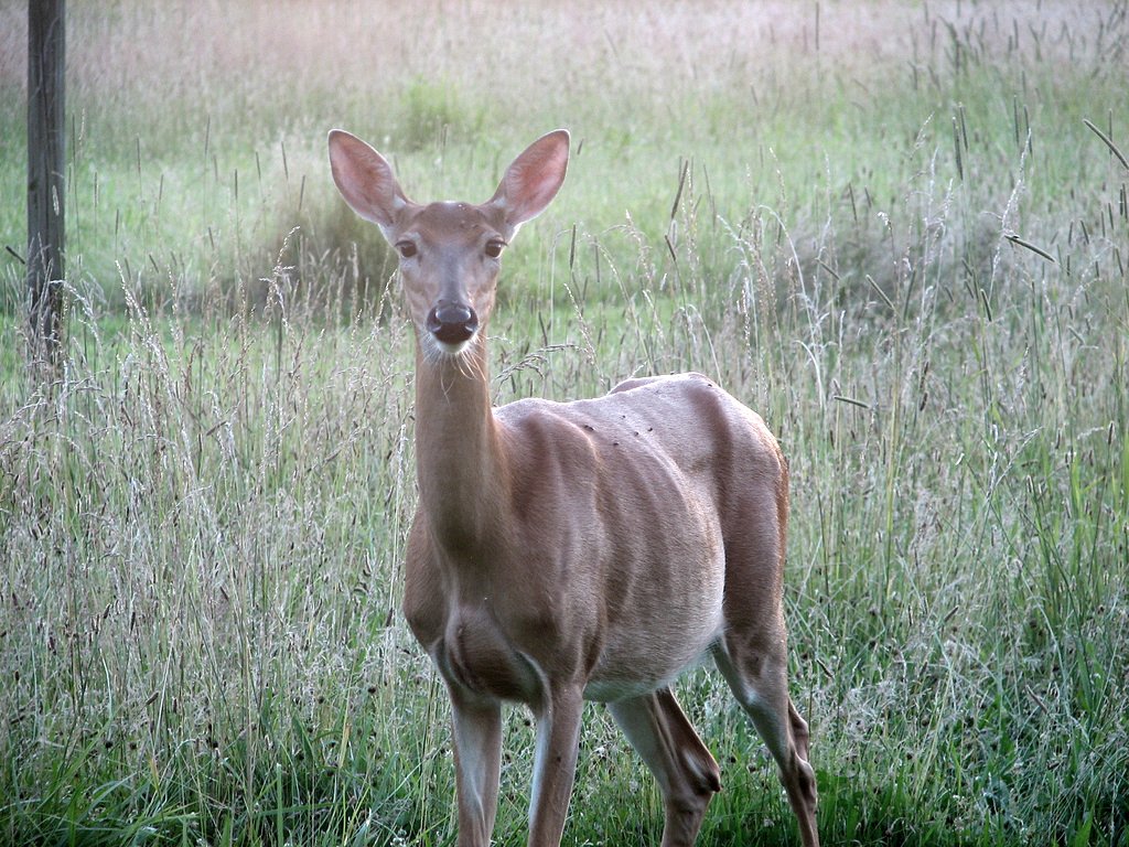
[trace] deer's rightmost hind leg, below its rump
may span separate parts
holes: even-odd
[[[787,656],[781,635],[761,640],[765,649],[735,649],[730,641],[715,649],[714,657],[780,767],[784,783],[805,847],[817,847],[815,828],[815,771],[808,762],[807,724],[788,697]]]

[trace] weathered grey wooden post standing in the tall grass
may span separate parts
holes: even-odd
[[[32,360],[54,366],[63,329],[65,0],[28,0],[27,24],[27,291]]]

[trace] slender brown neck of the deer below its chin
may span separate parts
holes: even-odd
[[[461,561],[495,544],[508,503],[484,333],[464,356],[415,355],[415,470],[432,540]]]

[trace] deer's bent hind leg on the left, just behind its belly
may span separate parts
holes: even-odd
[[[607,709],[663,793],[663,847],[689,847],[710,800],[721,791],[717,762],[668,688],[611,702]]]

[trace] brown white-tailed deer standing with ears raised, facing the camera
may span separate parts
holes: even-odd
[[[534,141],[481,206],[413,203],[371,147],[329,141],[345,201],[400,255],[415,325],[404,612],[450,695],[458,844],[490,841],[507,700],[536,717],[528,842],[560,844],[586,699],[607,704],[655,774],[663,845],[692,844],[720,772],[669,687],[708,653],[816,845],[807,725],[786,679],[788,470],[764,422],[698,374],[490,404],[499,257],[564,181],[568,132]]]

